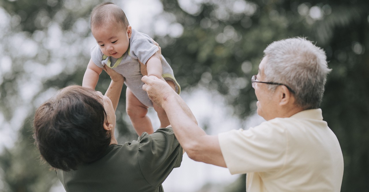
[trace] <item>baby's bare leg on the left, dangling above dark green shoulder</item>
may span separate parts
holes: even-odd
[[[126,111],[136,133],[138,135],[141,135],[144,132],[147,132],[148,134],[154,133],[151,120],[147,116],[148,107],[142,104],[128,87],[125,94]]]

